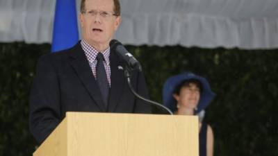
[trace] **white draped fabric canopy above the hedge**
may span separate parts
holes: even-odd
[[[76,0],[79,10],[80,0]],[[277,0],[120,0],[124,44],[278,48]],[[51,43],[55,0],[0,0],[0,42]],[[80,32],[80,31],[79,31]]]

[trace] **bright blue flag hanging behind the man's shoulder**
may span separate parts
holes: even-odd
[[[51,51],[69,49],[78,40],[76,0],[56,0]]]

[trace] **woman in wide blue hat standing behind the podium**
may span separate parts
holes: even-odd
[[[191,72],[168,78],[163,86],[163,103],[177,115],[196,115],[213,100],[208,81]],[[213,155],[213,130],[199,120],[199,155]]]

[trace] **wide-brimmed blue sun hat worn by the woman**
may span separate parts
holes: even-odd
[[[184,80],[198,80],[202,85],[202,92],[200,93],[199,103],[197,105],[197,110],[195,110],[195,114],[197,114],[204,110],[209,103],[211,103],[215,96],[215,93],[211,91],[211,87],[209,87],[206,78],[197,76],[195,73],[189,71],[167,78],[166,82],[163,85],[163,105],[172,110],[172,112],[177,110],[177,101],[173,97],[174,89],[176,89],[177,86],[181,85]]]

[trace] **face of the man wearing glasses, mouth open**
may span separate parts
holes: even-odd
[[[113,14],[113,0],[86,0],[85,13],[79,15],[83,39],[92,46],[108,46],[120,24]]]

